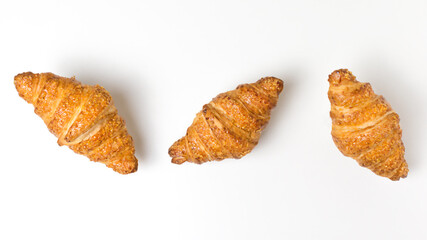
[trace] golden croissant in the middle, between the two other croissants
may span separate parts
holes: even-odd
[[[283,81],[274,77],[221,93],[197,113],[187,134],[169,148],[172,163],[241,158],[257,145]]]

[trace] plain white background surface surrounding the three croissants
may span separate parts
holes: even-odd
[[[0,239],[426,239],[426,64],[424,0],[2,1]],[[335,147],[339,68],[400,115],[406,179]],[[59,147],[15,90],[25,71],[109,90],[138,172]],[[170,163],[203,104],[264,76],[285,88],[249,155]]]

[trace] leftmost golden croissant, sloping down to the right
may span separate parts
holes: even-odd
[[[15,76],[15,87],[34,105],[60,146],[121,174],[137,170],[132,137],[103,87],[81,84],[74,77],[31,72]]]

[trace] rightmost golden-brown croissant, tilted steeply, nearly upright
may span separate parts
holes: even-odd
[[[347,69],[329,75],[332,137],[338,149],[361,166],[391,180],[405,178],[408,165],[399,115],[369,83]]]

